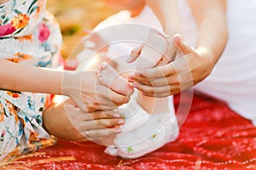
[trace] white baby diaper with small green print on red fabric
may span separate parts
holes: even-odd
[[[134,159],[177,139],[178,126],[173,110],[150,115],[136,99],[137,92],[128,104],[119,107],[119,112],[125,116],[125,125],[121,127],[123,132],[114,139],[114,145],[105,150],[107,154]]]

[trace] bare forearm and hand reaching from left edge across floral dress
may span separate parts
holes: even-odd
[[[62,94],[72,98],[82,111],[115,109],[129,97],[114,93],[97,82],[96,71],[56,71],[17,65],[0,59],[0,88],[21,92]]]

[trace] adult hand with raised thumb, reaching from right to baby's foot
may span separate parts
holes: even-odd
[[[173,38],[177,50],[182,54],[173,62],[137,71],[129,77],[133,87],[150,97],[166,97],[178,94],[204,80],[212,71],[214,62],[204,48],[195,50],[181,40],[179,35]]]

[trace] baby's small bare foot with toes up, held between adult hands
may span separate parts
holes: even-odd
[[[131,96],[134,89],[125,80],[120,77],[117,71],[115,71],[107,62],[102,62],[97,69],[98,80],[105,86],[111,88],[113,91],[119,94]]]

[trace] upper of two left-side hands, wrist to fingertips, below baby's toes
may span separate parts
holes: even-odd
[[[69,96],[82,111],[111,111],[129,101],[97,81],[96,71],[67,71],[63,76],[62,94]]]

